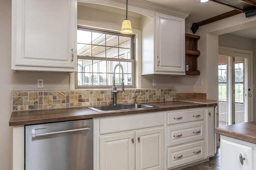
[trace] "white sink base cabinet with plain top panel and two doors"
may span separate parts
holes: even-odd
[[[163,115],[158,112],[100,118],[98,169],[163,170]]]

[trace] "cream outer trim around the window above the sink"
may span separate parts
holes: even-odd
[[[105,24],[105,23],[98,23],[93,21],[86,21],[86,20],[77,20],[77,25],[82,27],[89,27],[94,29],[106,29],[108,31],[115,31],[119,32],[121,25],[111,25],[111,24]],[[120,23],[121,24],[121,23]],[[135,74],[134,74],[134,87],[135,88],[141,88],[141,30],[139,29],[132,29],[133,33],[135,35],[135,49],[134,49],[134,60],[135,60]],[[99,88],[99,87],[97,87]],[[70,89],[75,89],[75,75],[74,73],[70,74]]]

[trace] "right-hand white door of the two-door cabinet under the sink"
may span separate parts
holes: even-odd
[[[164,169],[164,129],[136,131],[136,170]]]

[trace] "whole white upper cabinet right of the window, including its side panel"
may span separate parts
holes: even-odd
[[[142,74],[185,75],[185,18],[142,18]]]

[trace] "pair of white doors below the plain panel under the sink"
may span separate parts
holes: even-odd
[[[100,170],[163,170],[163,133],[156,127],[100,137]]]

